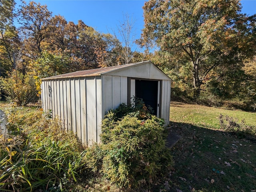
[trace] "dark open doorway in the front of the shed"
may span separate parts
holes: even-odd
[[[142,98],[146,106],[150,105],[157,115],[158,81],[135,80],[135,97]]]

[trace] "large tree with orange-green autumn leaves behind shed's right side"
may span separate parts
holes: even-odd
[[[190,64],[194,98],[214,68],[255,53],[256,15],[240,14],[238,0],[149,0],[143,9],[141,42],[153,40],[173,62]]]

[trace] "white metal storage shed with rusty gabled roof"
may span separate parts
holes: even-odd
[[[100,143],[101,121],[132,96],[169,124],[171,79],[152,62],[77,71],[42,79],[42,108],[85,144]]]

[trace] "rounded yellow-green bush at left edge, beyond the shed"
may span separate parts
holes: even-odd
[[[7,99],[15,102],[17,106],[26,105],[38,99],[35,80],[32,76],[23,75],[14,70],[8,78],[1,78],[0,84]]]

